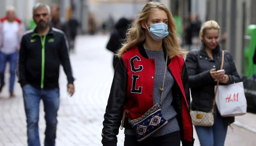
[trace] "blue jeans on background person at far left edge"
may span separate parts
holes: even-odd
[[[4,86],[4,71],[5,71],[5,66],[7,64],[7,61],[10,62],[10,92],[13,92],[13,87],[14,87],[14,81],[15,81],[15,69],[16,69],[16,64],[18,60],[18,53],[15,52],[10,55],[5,55],[4,53],[0,52],[0,83],[1,87]]]

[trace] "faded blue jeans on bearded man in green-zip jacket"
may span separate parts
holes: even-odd
[[[45,146],[54,146],[57,128],[57,111],[60,104],[60,90],[38,89],[26,85],[23,89],[25,112],[27,117],[27,143],[29,146],[40,146],[38,133],[39,103],[42,99],[45,111]]]

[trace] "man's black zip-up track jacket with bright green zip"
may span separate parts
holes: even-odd
[[[73,84],[68,42],[63,31],[50,28],[45,36],[35,30],[25,32],[20,43],[17,75],[21,87],[30,84],[35,88],[59,88],[60,64]]]

